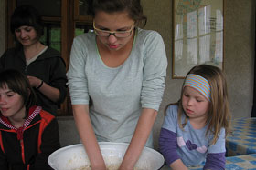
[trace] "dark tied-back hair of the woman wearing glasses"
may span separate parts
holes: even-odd
[[[97,11],[106,13],[127,11],[136,25],[144,26],[147,21],[140,0],[89,0],[88,14],[94,17]]]

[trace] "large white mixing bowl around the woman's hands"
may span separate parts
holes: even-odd
[[[107,167],[118,165],[129,144],[100,142],[101,153]],[[82,144],[69,145],[53,152],[48,157],[48,164],[55,170],[76,170],[89,167],[90,162]],[[135,169],[157,170],[164,165],[164,157],[154,149],[144,147],[142,155],[135,165]]]

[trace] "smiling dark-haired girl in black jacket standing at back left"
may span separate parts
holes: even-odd
[[[11,16],[16,47],[1,56],[0,70],[12,68],[26,74],[36,90],[37,105],[56,115],[67,95],[66,65],[57,50],[40,43],[43,29],[34,7],[18,6]]]

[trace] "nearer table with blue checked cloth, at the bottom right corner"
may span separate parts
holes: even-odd
[[[203,165],[191,167],[190,170],[202,170]],[[237,155],[226,157],[226,170],[256,170],[256,154]],[[164,166],[161,170],[170,170],[168,166]]]

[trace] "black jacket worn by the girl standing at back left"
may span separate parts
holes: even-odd
[[[59,89],[59,100],[55,103],[35,88],[37,105],[56,115],[58,106],[65,100],[67,95],[66,83],[68,81],[66,65],[59,52],[48,47],[44,53],[27,66],[23,48],[11,48],[5,51],[4,55],[0,58],[0,71],[10,68],[19,70],[26,75],[36,76],[48,85]]]

